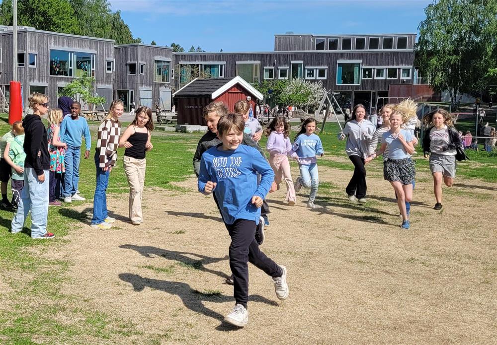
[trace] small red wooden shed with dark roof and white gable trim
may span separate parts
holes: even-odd
[[[262,94],[240,76],[193,79],[172,95],[177,102],[178,125],[205,125],[202,109],[212,101],[222,101],[233,111],[237,101],[250,96],[255,113],[255,99],[262,100]]]

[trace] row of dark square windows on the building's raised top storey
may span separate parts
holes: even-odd
[[[366,38],[356,37],[355,38],[355,50],[365,50],[366,49]],[[394,37],[383,37],[382,49],[394,49]],[[316,38],[315,40],[315,50],[338,50],[338,38]],[[368,49],[380,49],[380,38],[379,37],[369,37],[368,39]],[[407,37],[397,37],[397,49],[407,49]],[[352,38],[342,38],[341,39],[341,50],[352,50]]]

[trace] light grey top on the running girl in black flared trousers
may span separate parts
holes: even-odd
[[[338,134],[348,136],[347,143],[345,144],[345,152],[348,156],[359,156],[366,158],[368,155],[369,141],[373,137],[376,127],[368,120],[357,122],[350,120],[345,124],[343,131]]]

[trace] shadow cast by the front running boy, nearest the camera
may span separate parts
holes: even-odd
[[[205,316],[212,317],[219,321],[223,320],[223,315],[205,307],[202,302],[234,302],[234,298],[232,296],[226,296],[222,294],[209,295],[198,293],[197,291],[193,290],[190,285],[179,281],[150,279],[131,273],[121,273],[119,274],[119,279],[130,283],[133,286],[133,290],[137,292],[142,291],[145,287],[150,287],[155,290],[167,292],[171,295],[177,295],[186,308],[196,313],[202,313]],[[248,299],[269,305],[278,305],[276,302],[260,295],[250,295],[248,296]]]

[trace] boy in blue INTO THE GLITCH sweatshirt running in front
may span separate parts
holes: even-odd
[[[240,145],[244,129],[241,115],[228,114],[219,119],[217,135],[222,143],[203,153],[198,176],[198,191],[205,195],[214,192],[231,237],[229,256],[236,305],[224,320],[238,327],[248,323],[248,262],[273,278],[278,299],[288,298],[286,268],[262,253],[254,238],[262,200],[274,172],[257,149]],[[257,173],[261,176],[258,185]]]

